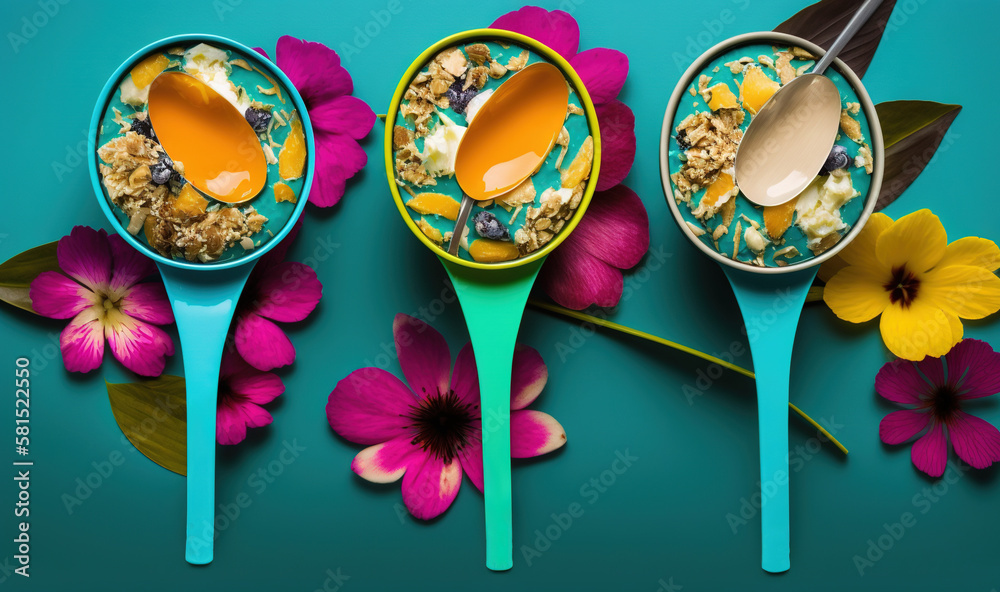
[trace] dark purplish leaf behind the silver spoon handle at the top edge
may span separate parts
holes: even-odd
[[[863,0],[822,0],[795,13],[795,16],[775,27],[779,33],[797,35],[812,41],[823,49],[829,49],[833,40],[847,26],[854,13],[861,8]],[[875,14],[861,27],[837,55],[861,78],[868,71],[875,56],[875,50],[882,40],[882,33],[889,22],[896,0],[885,0],[875,9]]]

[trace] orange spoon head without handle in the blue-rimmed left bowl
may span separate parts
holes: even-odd
[[[164,72],[149,88],[149,120],[184,178],[226,203],[253,199],[267,182],[267,161],[256,132],[222,95],[183,72]]]

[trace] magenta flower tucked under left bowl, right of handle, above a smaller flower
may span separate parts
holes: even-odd
[[[304,263],[285,261],[301,223],[265,253],[247,279],[234,315],[236,350],[258,370],[295,361],[295,346],[274,321],[294,323],[309,316],[323,296],[323,284]]]

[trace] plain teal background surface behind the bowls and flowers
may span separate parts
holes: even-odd
[[[488,25],[519,6],[437,3],[428,18],[427,5],[400,0],[402,11],[379,25],[372,11],[385,10],[387,2],[286,0],[276,9],[273,3],[249,0],[175,1],[131,5],[125,18],[105,8],[110,3],[69,0],[17,51],[8,42],[0,44],[7,91],[0,94],[7,115],[0,149],[7,165],[0,259],[56,240],[73,224],[107,227],[81,142],[108,75],[150,41],[184,32],[217,33],[268,50],[284,33],[323,41],[345,61],[349,58],[355,94],[384,112],[413,56],[450,33]],[[688,244],[663,201],[657,139],[668,96],[697,54],[731,35],[771,29],[803,4],[564,2],[580,22],[583,48],[614,47],[631,60],[622,98],[636,114],[639,150],[627,184],[649,210],[652,242],[649,257],[627,276],[625,297],[612,314],[615,321],[709,352],[733,346],[746,351],[736,301],[721,270]],[[20,31],[22,18],[40,10],[36,1],[3,2],[5,41],[9,32]],[[992,166],[989,158],[1000,133],[994,116],[1000,82],[992,75],[976,77],[980,90],[971,92],[964,83],[968,71],[956,62],[957,48],[961,55],[993,54],[996,17],[995,5],[985,1],[901,1],[865,76],[876,102],[964,104],[934,162],[887,210],[898,217],[931,207],[953,238],[1000,238],[991,184],[974,172],[975,166]],[[355,28],[369,22],[380,32],[348,56],[343,44],[352,43]],[[950,484],[935,482],[912,467],[908,447],[882,445],[878,423],[893,407],[872,388],[888,359],[876,324],[845,324],[821,304],[807,305],[803,314],[791,397],[814,417],[835,424],[836,436],[851,453],[845,459],[828,444],[817,450],[815,432],[792,419],[788,573],[760,570],[756,517],[735,534],[726,519],[738,514],[741,499],[757,488],[752,382],[731,372],[718,376],[700,360],[662,346],[604,330],[591,334],[533,309],[525,314],[520,340],[542,353],[550,372],[533,407],[562,422],[569,441],[546,458],[515,463],[514,569],[490,573],[484,567],[483,501],[469,484],[432,524],[399,514],[398,484],[371,485],[351,473],[349,463],[359,447],[329,429],[327,395],[339,379],[362,366],[382,364],[398,372],[395,360],[383,355],[391,353],[392,317],[398,312],[423,310],[453,352],[467,335],[459,307],[444,302],[451,301],[450,293],[441,299],[444,270],[406,230],[389,196],[381,133],[376,129],[366,141],[369,166],[349,185],[342,204],[306,212],[291,256],[316,267],[324,299],[309,320],[289,328],[298,358],[282,372],[287,391],[270,406],[274,423],[253,430],[245,443],[219,451],[217,501],[231,503],[240,492],[252,501],[220,534],[215,562],[207,567],[183,560],[183,479],[121,441],[102,381],[125,380],[125,371],[108,353],[99,371],[66,373],[58,357],[46,358],[65,323],[3,307],[0,370],[13,374],[18,356],[36,360],[32,578],[0,570],[5,588],[312,592],[323,588],[327,570],[338,569],[350,577],[341,588],[348,591],[1000,588],[997,467],[961,474]],[[57,175],[54,164],[69,170]],[[1000,345],[995,319],[965,327],[968,336]],[[736,361],[749,366],[749,354]],[[167,372],[181,373],[179,356],[170,360]],[[718,378],[689,403],[685,385],[705,386],[698,380],[709,372]],[[6,403],[0,408],[7,411],[0,426],[6,434],[6,463],[13,457],[8,430],[13,429],[14,388],[4,384]],[[976,404],[974,413],[1000,423],[996,400]],[[248,485],[248,477],[266,471],[283,443],[293,440],[305,447],[300,456],[263,491]],[[637,460],[595,499],[596,490],[587,484],[612,468],[616,451],[628,451]],[[76,479],[95,470],[92,463],[116,452],[125,462],[68,515],[61,496],[72,494]],[[0,479],[0,566],[14,554],[16,493],[12,467],[4,471],[10,472]],[[936,494],[930,489],[935,483]],[[582,505],[583,514],[569,528],[553,527],[560,536],[529,566],[521,546],[533,545],[536,530],[551,526],[552,514],[566,512],[573,503]],[[864,555],[869,540],[885,534],[883,525],[899,522],[905,512],[915,515],[915,524],[859,575],[852,558]]]

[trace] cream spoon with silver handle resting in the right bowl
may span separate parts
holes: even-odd
[[[750,201],[777,206],[806,188],[840,127],[840,91],[823,72],[882,0],[867,0],[813,68],[784,85],[754,116],[736,151],[736,185]]]

